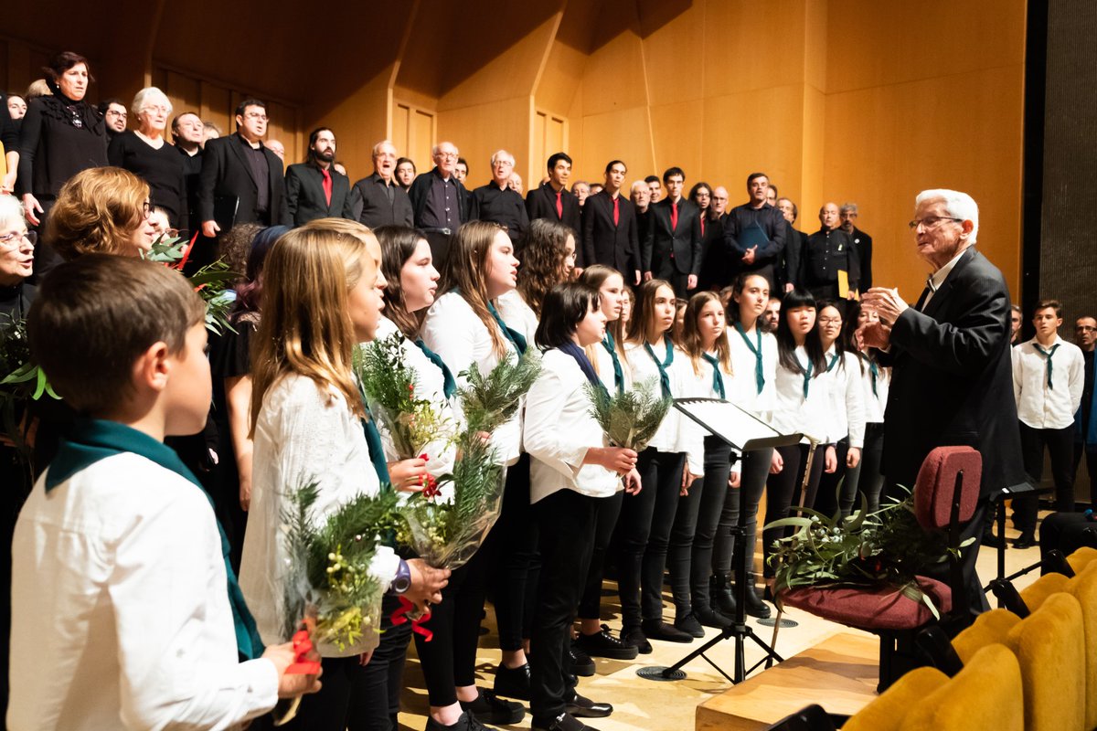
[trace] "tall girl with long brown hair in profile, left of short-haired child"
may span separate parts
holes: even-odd
[[[459,387],[465,385],[460,374],[467,368],[475,367],[482,374],[488,374],[504,358],[518,357],[524,352],[525,339],[506,325],[494,305],[498,297],[514,288],[517,275],[513,243],[498,224],[470,221],[462,225],[450,240],[442,275],[444,294],[427,311],[422,340],[455,374]],[[513,500],[524,500],[529,504],[529,469],[518,466],[521,429],[519,413],[491,434],[497,458],[508,466],[504,504]],[[448,597],[452,597],[451,604],[436,608],[436,612],[443,613],[442,620],[439,621],[436,615],[431,623],[437,623],[438,627],[450,624],[452,639],[440,642],[441,638],[436,638],[418,646],[430,646],[423,658],[431,706],[428,731],[480,728],[479,718],[495,723],[518,723],[524,716],[520,704],[500,701],[494,694],[476,687],[480,613],[486,582],[495,566],[499,533],[497,524],[476,555],[455,575],[446,592]],[[510,546],[506,548],[511,550]],[[507,596],[497,596],[496,614],[500,638],[505,628],[510,637],[517,638],[511,647],[505,648],[504,665],[499,672],[511,669],[512,674],[527,678],[529,664],[521,648],[523,596],[524,584],[511,587]],[[514,602],[506,603],[509,597],[518,597],[517,609]],[[446,613],[452,619],[446,619]],[[438,676],[431,677],[434,673]],[[498,677],[497,673],[497,683]],[[463,713],[461,709],[472,712]]]

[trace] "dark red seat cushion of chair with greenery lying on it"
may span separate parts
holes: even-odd
[[[926,576],[918,576],[918,585],[942,615],[952,609],[948,585]],[[929,607],[894,586],[806,586],[784,592],[781,601],[816,617],[867,630],[914,629],[934,619]]]

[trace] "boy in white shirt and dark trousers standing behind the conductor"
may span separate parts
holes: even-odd
[[[1074,413],[1082,402],[1085,361],[1077,345],[1059,336],[1063,306],[1058,300],[1041,300],[1032,324],[1036,338],[1011,351],[1025,471],[1039,484],[1047,448],[1055,481],[1055,510],[1073,511]],[[1014,511],[1021,532],[1014,546],[1029,548],[1036,544],[1036,495],[1018,498]]]

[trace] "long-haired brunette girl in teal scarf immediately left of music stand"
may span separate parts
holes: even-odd
[[[675,321],[675,290],[664,279],[648,279],[640,287],[636,311],[629,322],[625,344],[633,382],[657,396],[682,396],[685,353],[676,349],[670,329]],[[678,509],[678,496],[702,472],[700,454],[686,454],[680,420],[671,410],[640,454],[637,470],[644,490],[626,495],[621,506],[618,593],[621,596],[621,641],[641,654],[652,651],[648,639],[692,642],[692,636],[663,621],[663,570],[667,544]],[[643,592],[643,594],[641,594]]]

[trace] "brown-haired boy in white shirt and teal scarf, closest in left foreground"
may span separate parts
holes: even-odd
[[[32,354],[78,419],[15,527],[13,731],[231,729],[319,685],[286,675],[292,644],[263,649],[210,499],[162,443],[205,423],[204,316],[137,259],[81,256],[38,289]]]

